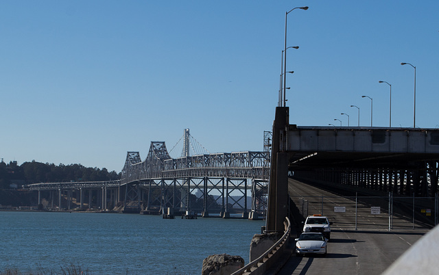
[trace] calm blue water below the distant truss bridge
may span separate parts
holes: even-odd
[[[0,272],[200,274],[211,254],[248,263],[252,236],[264,221],[115,213],[0,212]]]

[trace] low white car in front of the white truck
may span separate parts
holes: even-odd
[[[327,239],[322,233],[302,233],[296,240],[296,256],[302,254],[327,254]]]

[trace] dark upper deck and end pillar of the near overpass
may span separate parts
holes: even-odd
[[[404,196],[438,192],[439,129],[298,127],[288,112],[276,108],[267,231],[281,231],[287,215],[287,174]]]

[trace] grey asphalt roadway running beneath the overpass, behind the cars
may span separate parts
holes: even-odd
[[[333,222],[328,254],[323,256],[292,254],[278,274],[381,274],[396,259],[422,237],[428,228],[405,218],[393,217],[388,229],[388,213],[372,215],[370,206],[377,199],[357,205],[355,198],[343,198],[305,183],[289,179],[290,196],[303,196],[308,202],[308,213],[323,213]],[[295,200],[298,197],[293,197]],[[322,201],[324,203],[322,203]],[[344,206],[346,212],[335,213],[334,206]],[[355,226],[356,224],[356,226]],[[357,228],[356,228],[357,227]]]

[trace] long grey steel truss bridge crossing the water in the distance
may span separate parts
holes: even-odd
[[[151,142],[144,161],[139,152],[127,153],[119,181],[27,187],[38,191],[38,205],[45,202],[45,207],[54,209],[71,209],[75,203],[81,209],[123,213],[194,211],[204,217],[262,218],[268,200],[270,134],[264,133],[264,151],[189,155],[189,129],[185,129],[185,156],[173,159],[165,142]]]

